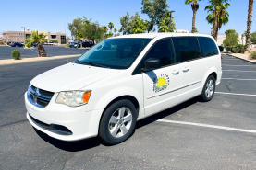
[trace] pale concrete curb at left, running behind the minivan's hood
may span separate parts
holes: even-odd
[[[14,60],[14,59],[0,60],[0,66],[1,65],[16,64],[16,63],[43,62],[43,61],[50,61],[50,60],[57,60],[57,59],[75,58],[75,57],[78,58],[79,56],[81,56],[81,54],[62,55],[62,56],[54,56],[54,57],[35,57],[35,58],[25,58],[25,59],[21,59],[21,60]]]

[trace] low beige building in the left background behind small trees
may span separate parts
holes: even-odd
[[[44,33],[46,36],[47,40],[57,40],[58,43],[60,44],[66,44],[66,34],[57,32],[57,33],[51,33],[51,32],[46,32],[46,31],[38,31],[38,33]],[[24,31],[3,31],[3,41],[11,41],[11,42],[24,42],[24,39],[31,36],[31,31],[30,30],[25,30],[25,35]]]

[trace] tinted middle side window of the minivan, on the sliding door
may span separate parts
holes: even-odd
[[[186,62],[201,57],[198,40],[194,37],[174,38],[179,62]]]

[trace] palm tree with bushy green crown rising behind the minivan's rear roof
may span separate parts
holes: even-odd
[[[218,28],[219,28],[219,18],[225,17],[226,15],[226,9],[228,6],[231,6],[229,3],[227,3],[228,0],[209,0],[209,3],[211,5],[208,5],[205,7],[204,10],[207,10],[209,14],[212,14],[213,16],[213,38],[217,41],[218,37]],[[229,14],[228,14],[229,17]],[[206,18],[206,20],[208,20]],[[210,22],[209,22],[210,23]]]

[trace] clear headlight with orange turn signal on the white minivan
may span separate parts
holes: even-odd
[[[60,92],[55,103],[64,104],[68,107],[79,107],[88,103],[91,91],[68,91]]]

